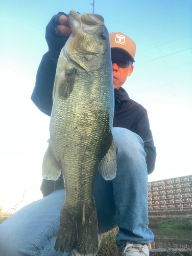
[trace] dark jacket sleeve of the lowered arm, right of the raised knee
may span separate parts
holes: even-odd
[[[137,133],[144,142],[144,150],[147,154],[146,163],[148,167],[148,174],[153,173],[155,169],[155,161],[156,161],[156,147],[153,141],[153,135],[150,130],[149,118],[146,109],[142,109],[136,117],[135,122],[137,123],[135,129],[133,131]]]

